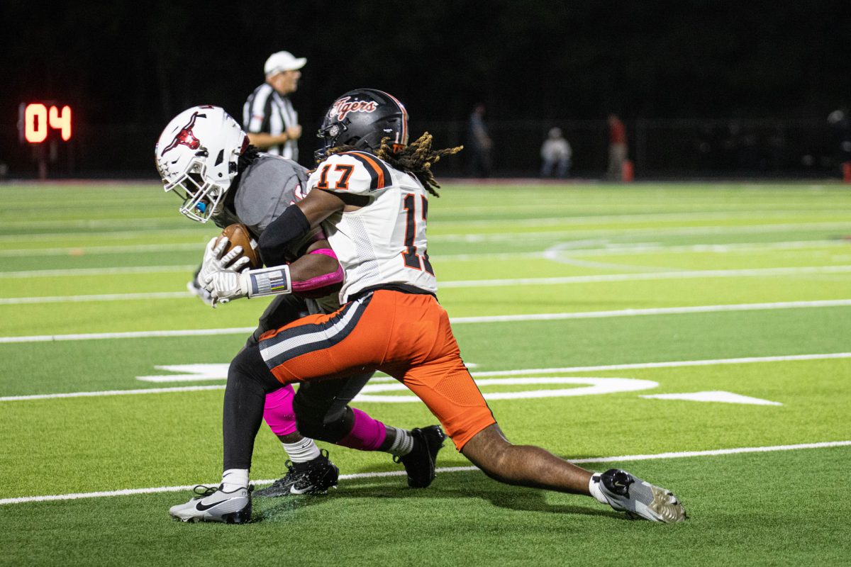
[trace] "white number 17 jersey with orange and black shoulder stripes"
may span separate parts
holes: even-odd
[[[437,292],[426,252],[428,193],[419,179],[368,152],[346,151],[319,164],[307,188],[363,199],[363,207],[323,222],[346,271],[341,302],[367,287],[387,284]]]

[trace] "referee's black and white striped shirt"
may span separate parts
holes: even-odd
[[[294,111],[293,103],[288,97],[278,94],[268,82],[255,88],[243,105],[243,128],[248,133],[270,133],[277,136],[298,123],[299,114]],[[294,139],[273,145],[264,151],[293,161],[299,159],[299,145]]]

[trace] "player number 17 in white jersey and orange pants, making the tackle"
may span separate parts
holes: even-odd
[[[267,265],[286,259],[280,251],[321,226],[346,278],[344,305],[329,315],[309,315],[266,332],[235,363],[255,388],[309,383],[324,376],[381,370],[423,400],[456,448],[484,473],[511,485],[593,496],[628,515],[660,522],[685,519],[669,490],[620,469],[592,473],[532,445],[512,445],[460,358],[446,311],[437,303],[437,282],[426,248],[429,195],[437,196],[431,166],[451,150],[431,150],[423,134],[408,145],[408,114],[390,94],[357,89],[334,101],[320,136],[325,159],[308,181],[305,199],[288,207],[260,236]],[[278,279],[287,279],[286,266]],[[221,269],[208,290],[224,299],[251,296],[264,285],[253,275]],[[270,372],[271,371],[271,372]],[[235,388],[237,383],[228,383]],[[260,422],[259,402],[225,408],[225,452],[243,451],[250,439],[228,431],[229,420]],[[250,428],[248,428],[250,429]],[[240,449],[241,448],[241,449]],[[248,470],[243,485],[208,496],[237,508],[250,507]],[[227,485],[223,485],[227,486]],[[237,493],[237,490],[243,490]],[[186,505],[184,505],[186,506]]]

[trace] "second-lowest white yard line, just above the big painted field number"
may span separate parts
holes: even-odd
[[[713,359],[713,360],[671,360],[666,362],[638,362],[633,364],[616,364],[605,366],[567,366],[562,368],[525,368],[521,370],[496,370],[471,372],[473,377],[491,376],[518,376],[523,374],[551,374],[555,372],[588,372],[608,370],[637,370],[642,368],[675,368],[680,366],[714,366],[731,364],[754,364],[758,362],[791,362],[797,360],[836,360],[851,358],[851,353],[827,353],[827,354],[790,354],[783,356],[752,356],[736,359]],[[60,398],[90,398],[112,395],[137,395],[137,394],[169,394],[172,392],[194,392],[198,390],[224,389],[225,385],[215,386],[177,386],[174,388],[140,388],[133,390],[105,390],[100,392],[66,392],[63,394],[30,394],[20,396],[3,396],[3,401],[27,401],[27,400],[54,400]]]

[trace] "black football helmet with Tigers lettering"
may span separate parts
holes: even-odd
[[[317,137],[323,139],[317,162],[341,145],[375,153],[385,138],[390,138],[394,151],[403,150],[408,145],[408,111],[391,94],[356,88],[334,100]]]

